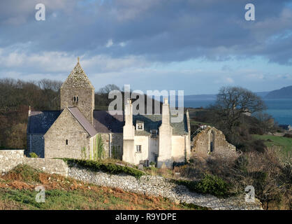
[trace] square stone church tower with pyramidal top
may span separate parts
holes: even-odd
[[[94,87],[80,66],[79,57],[75,68],[61,85],[60,94],[61,109],[75,106],[93,124]]]

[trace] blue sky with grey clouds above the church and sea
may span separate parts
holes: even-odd
[[[96,90],[279,89],[292,85],[292,1],[0,1],[0,78],[64,81],[77,57]]]

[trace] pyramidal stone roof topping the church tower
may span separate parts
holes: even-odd
[[[65,80],[63,85],[61,85],[61,89],[67,89],[71,87],[94,90],[94,86],[80,66],[79,57],[74,69],[71,71],[70,75]]]

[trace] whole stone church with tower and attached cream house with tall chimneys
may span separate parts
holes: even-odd
[[[40,158],[93,158],[97,138],[105,158],[135,165],[172,167],[191,154],[189,113],[181,123],[170,122],[168,100],[162,114],[133,115],[131,100],[122,115],[94,110],[94,87],[78,63],[61,85],[59,111],[31,111],[27,125],[27,154]]]

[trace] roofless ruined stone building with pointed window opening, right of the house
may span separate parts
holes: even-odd
[[[202,158],[207,158],[208,155],[214,153],[221,153],[228,155],[235,153],[236,148],[226,141],[223,132],[217,130],[215,127],[203,125],[196,130],[192,135],[191,155],[198,155]]]

